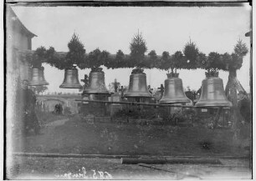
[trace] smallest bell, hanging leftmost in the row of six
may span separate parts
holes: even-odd
[[[44,78],[44,68],[32,68],[32,78],[29,81],[30,86],[49,85]]]

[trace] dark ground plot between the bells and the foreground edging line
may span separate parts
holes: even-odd
[[[113,123],[110,118],[66,117],[45,123],[39,135],[17,135],[13,151],[125,155],[248,156],[248,135],[233,145],[225,128]]]

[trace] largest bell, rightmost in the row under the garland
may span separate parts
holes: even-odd
[[[202,80],[202,93],[196,103],[197,107],[231,107],[232,103],[226,98],[223,79],[209,77]]]

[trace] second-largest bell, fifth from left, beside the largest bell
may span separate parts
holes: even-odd
[[[165,80],[165,91],[159,103],[189,103],[183,91],[182,79],[178,77],[167,78]]]

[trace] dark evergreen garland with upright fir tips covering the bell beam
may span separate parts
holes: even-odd
[[[219,70],[230,71],[242,67],[243,56],[248,53],[245,43],[238,40],[234,46],[232,54],[229,53],[209,53],[208,55],[199,52],[196,43],[191,41],[187,43],[181,51],[170,55],[163,52],[161,58],[157,57],[156,51],[151,50],[147,56],[146,41],[142,38],[141,33],[137,33],[131,42],[131,53],[125,55],[118,50],[115,56],[110,56],[107,51],[100,51],[96,48],[85,56],[84,44],[79,42],[79,38],[74,34],[69,44],[69,53],[56,53],[53,47],[46,49],[37,48],[33,55],[26,54],[28,63],[33,68],[42,68],[42,63],[64,69],[73,68],[76,64],[79,68],[92,68],[93,71],[102,71],[100,66],[106,68],[135,68],[132,73],[143,73],[141,68],[159,68],[168,70],[171,68],[172,73],[177,69],[195,69],[203,68],[207,70],[208,75],[216,74]],[[210,74],[209,74],[210,73]]]

